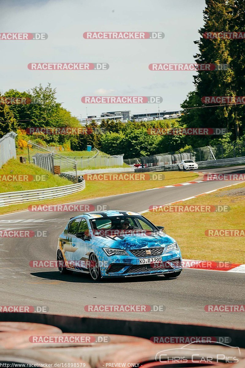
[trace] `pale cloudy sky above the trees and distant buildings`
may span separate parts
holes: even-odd
[[[158,111],[157,104],[84,104],[83,96],[161,96],[178,110],[193,71],[150,71],[151,63],[193,63],[204,0],[0,0],[0,32],[43,32],[46,40],[0,40],[0,92],[49,82],[78,118]],[[84,39],[89,31],[164,32],[163,39]],[[108,63],[108,70],[29,70],[29,63]],[[87,107],[87,110],[86,110]]]

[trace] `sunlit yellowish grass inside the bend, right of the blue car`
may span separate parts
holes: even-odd
[[[206,236],[207,229],[244,229],[245,184],[241,183],[201,195],[177,205],[226,205],[228,212],[169,213],[146,212],[143,215],[159,226],[180,245],[185,259],[245,263],[242,236]]]

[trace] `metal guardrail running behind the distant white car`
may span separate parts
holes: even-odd
[[[199,161],[197,162],[198,169],[212,169],[213,167],[219,166],[230,166],[236,164],[245,164],[245,157],[235,157],[231,159],[221,159],[221,160],[209,160],[209,161]],[[152,167],[143,167],[142,169],[135,169],[136,173],[145,173],[149,171],[172,171],[179,170],[178,164],[173,165],[165,165],[165,166],[152,166]]]

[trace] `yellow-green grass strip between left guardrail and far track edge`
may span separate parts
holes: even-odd
[[[1,174],[1,169],[0,169],[0,174]],[[154,174],[157,174],[157,173],[154,173]],[[163,174],[163,173],[161,172],[160,174]],[[164,173],[164,177],[165,179],[161,181],[159,180],[118,181],[117,183],[115,183],[115,181],[87,181],[86,188],[81,192],[66,195],[65,197],[62,197],[62,198],[48,199],[46,201],[33,201],[33,202],[27,202],[23,204],[0,207],[0,214],[14,212],[18,210],[25,210],[28,208],[29,205],[32,205],[32,204],[54,205],[54,204],[59,204],[59,203],[81,201],[82,199],[107,197],[109,195],[115,195],[115,194],[138,192],[138,191],[142,191],[146,189],[162,187],[164,185],[184,183],[185,181],[194,180],[196,177],[198,177],[198,175],[193,172],[188,172],[188,171],[184,171],[184,172],[166,171],[166,173]],[[22,187],[22,190],[25,190],[25,188]],[[69,217],[69,214],[67,217]]]

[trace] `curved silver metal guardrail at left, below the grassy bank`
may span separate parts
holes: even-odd
[[[19,192],[6,192],[0,194],[0,207],[42,199],[59,198],[64,195],[79,192],[85,188],[85,180],[82,183],[63,185],[62,187],[24,190]]]

